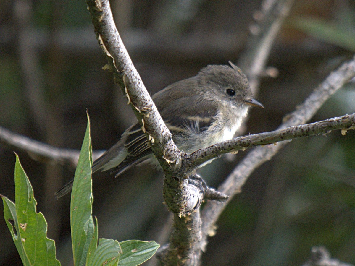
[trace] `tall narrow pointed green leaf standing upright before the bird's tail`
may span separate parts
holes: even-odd
[[[84,265],[94,233],[92,219],[92,151],[90,139],[90,120],[81,147],[76,167],[70,203],[71,238],[74,265]]]

